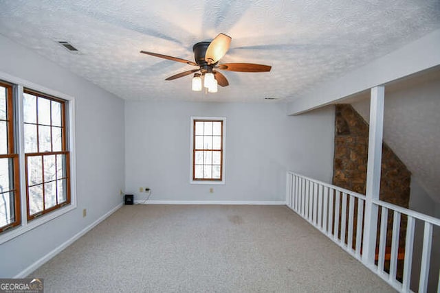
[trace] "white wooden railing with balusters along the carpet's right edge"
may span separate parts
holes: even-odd
[[[382,200],[373,200],[373,204],[380,210],[379,237],[376,240],[376,259],[368,263],[362,259],[362,247],[369,239],[364,239],[362,228],[365,221],[364,207],[366,196],[347,189],[343,189],[328,183],[323,183],[312,178],[293,172],[287,172],[287,207],[298,213],[310,224],[327,235],[333,242],[338,244],[350,255],[364,263],[373,272],[379,275],[387,283],[400,292],[428,291],[428,278],[432,248],[432,230],[440,227],[440,220],[422,213],[398,207]],[[388,214],[393,213],[391,251],[387,253],[387,230]],[[399,237],[402,226],[401,218],[406,218],[406,238],[404,253],[399,255]],[[424,226],[423,246],[419,272],[412,272],[413,248],[415,245],[415,222],[421,221]],[[388,240],[389,242],[389,240]],[[439,249],[435,247],[434,249]],[[402,249],[400,249],[402,250]],[[404,255],[404,257],[402,257]],[[397,277],[397,262],[403,261],[403,274]],[[373,263],[373,265],[371,264]],[[440,292],[439,269],[431,276],[430,282],[437,286]],[[418,284],[411,283],[411,274],[417,274],[419,278],[413,278]],[[435,280],[434,280],[435,279]]]

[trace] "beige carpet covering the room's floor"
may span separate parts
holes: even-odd
[[[124,206],[30,277],[45,292],[395,292],[281,206]]]

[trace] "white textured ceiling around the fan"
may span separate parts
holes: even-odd
[[[124,99],[261,102],[294,99],[440,27],[438,0],[0,0],[0,34]],[[223,71],[219,93],[190,90],[192,45],[232,36],[221,62],[272,65],[270,73]],[[72,54],[57,40],[67,40]]]

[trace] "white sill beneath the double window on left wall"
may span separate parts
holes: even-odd
[[[62,207],[60,209],[57,209],[56,211],[52,211],[51,213],[42,215],[41,218],[36,218],[35,220],[32,220],[25,225],[21,224],[20,226],[12,228],[8,231],[4,231],[3,235],[0,235],[0,244],[8,242],[9,240],[14,239],[15,237],[19,237],[20,235],[42,224],[47,223],[50,220],[54,220],[55,218],[58,218],[61,215],[64,215],[65,213],[72,211],[73,209],[76,209],[76,204],[69,204],[66,207]]]

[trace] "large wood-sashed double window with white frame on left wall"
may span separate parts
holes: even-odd
[[[71,101],[43,91],[0,81],[0,243],[74,208]]]

